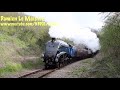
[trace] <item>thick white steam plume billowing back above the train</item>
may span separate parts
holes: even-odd
[[[97,35],[88,28],[79,28],[77,26],[54,26],[49,30],[51,37],[68,38],[75,44],[83,44],[90,48],[93,52],[100,49],[99,39]]]

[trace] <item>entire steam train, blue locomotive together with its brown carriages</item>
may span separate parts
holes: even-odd
[[[92,51],[88,48],[79,50],[76,46],[52,38],[45,44],[45,53],[42,54],[42,58],[46,69],[53,65],[60,68],[72,59],[83,59],[90,57],[92,54]]]

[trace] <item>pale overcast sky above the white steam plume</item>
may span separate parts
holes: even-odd
[[[25,12],[27,15],[44,17],[47,22],[77,25],[83,28],[101,28],[103,18],[100,12]]]

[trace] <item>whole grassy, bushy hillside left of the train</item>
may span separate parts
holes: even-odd
[[[20,12],[0,12],[0,16],[27,15]],[[40,54],[45,42],[50,39],[49,28],[50,26],[0,26],[0,77],[43,65]]]

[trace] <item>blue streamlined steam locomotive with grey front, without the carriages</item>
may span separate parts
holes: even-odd
[[[45,63],[45,68],[51,65],[56,67],[61,67],[76,56],[76,48],[62,40],[56,40],[52,38],[45,44],[45,53],[43,54],[43,62]]]

